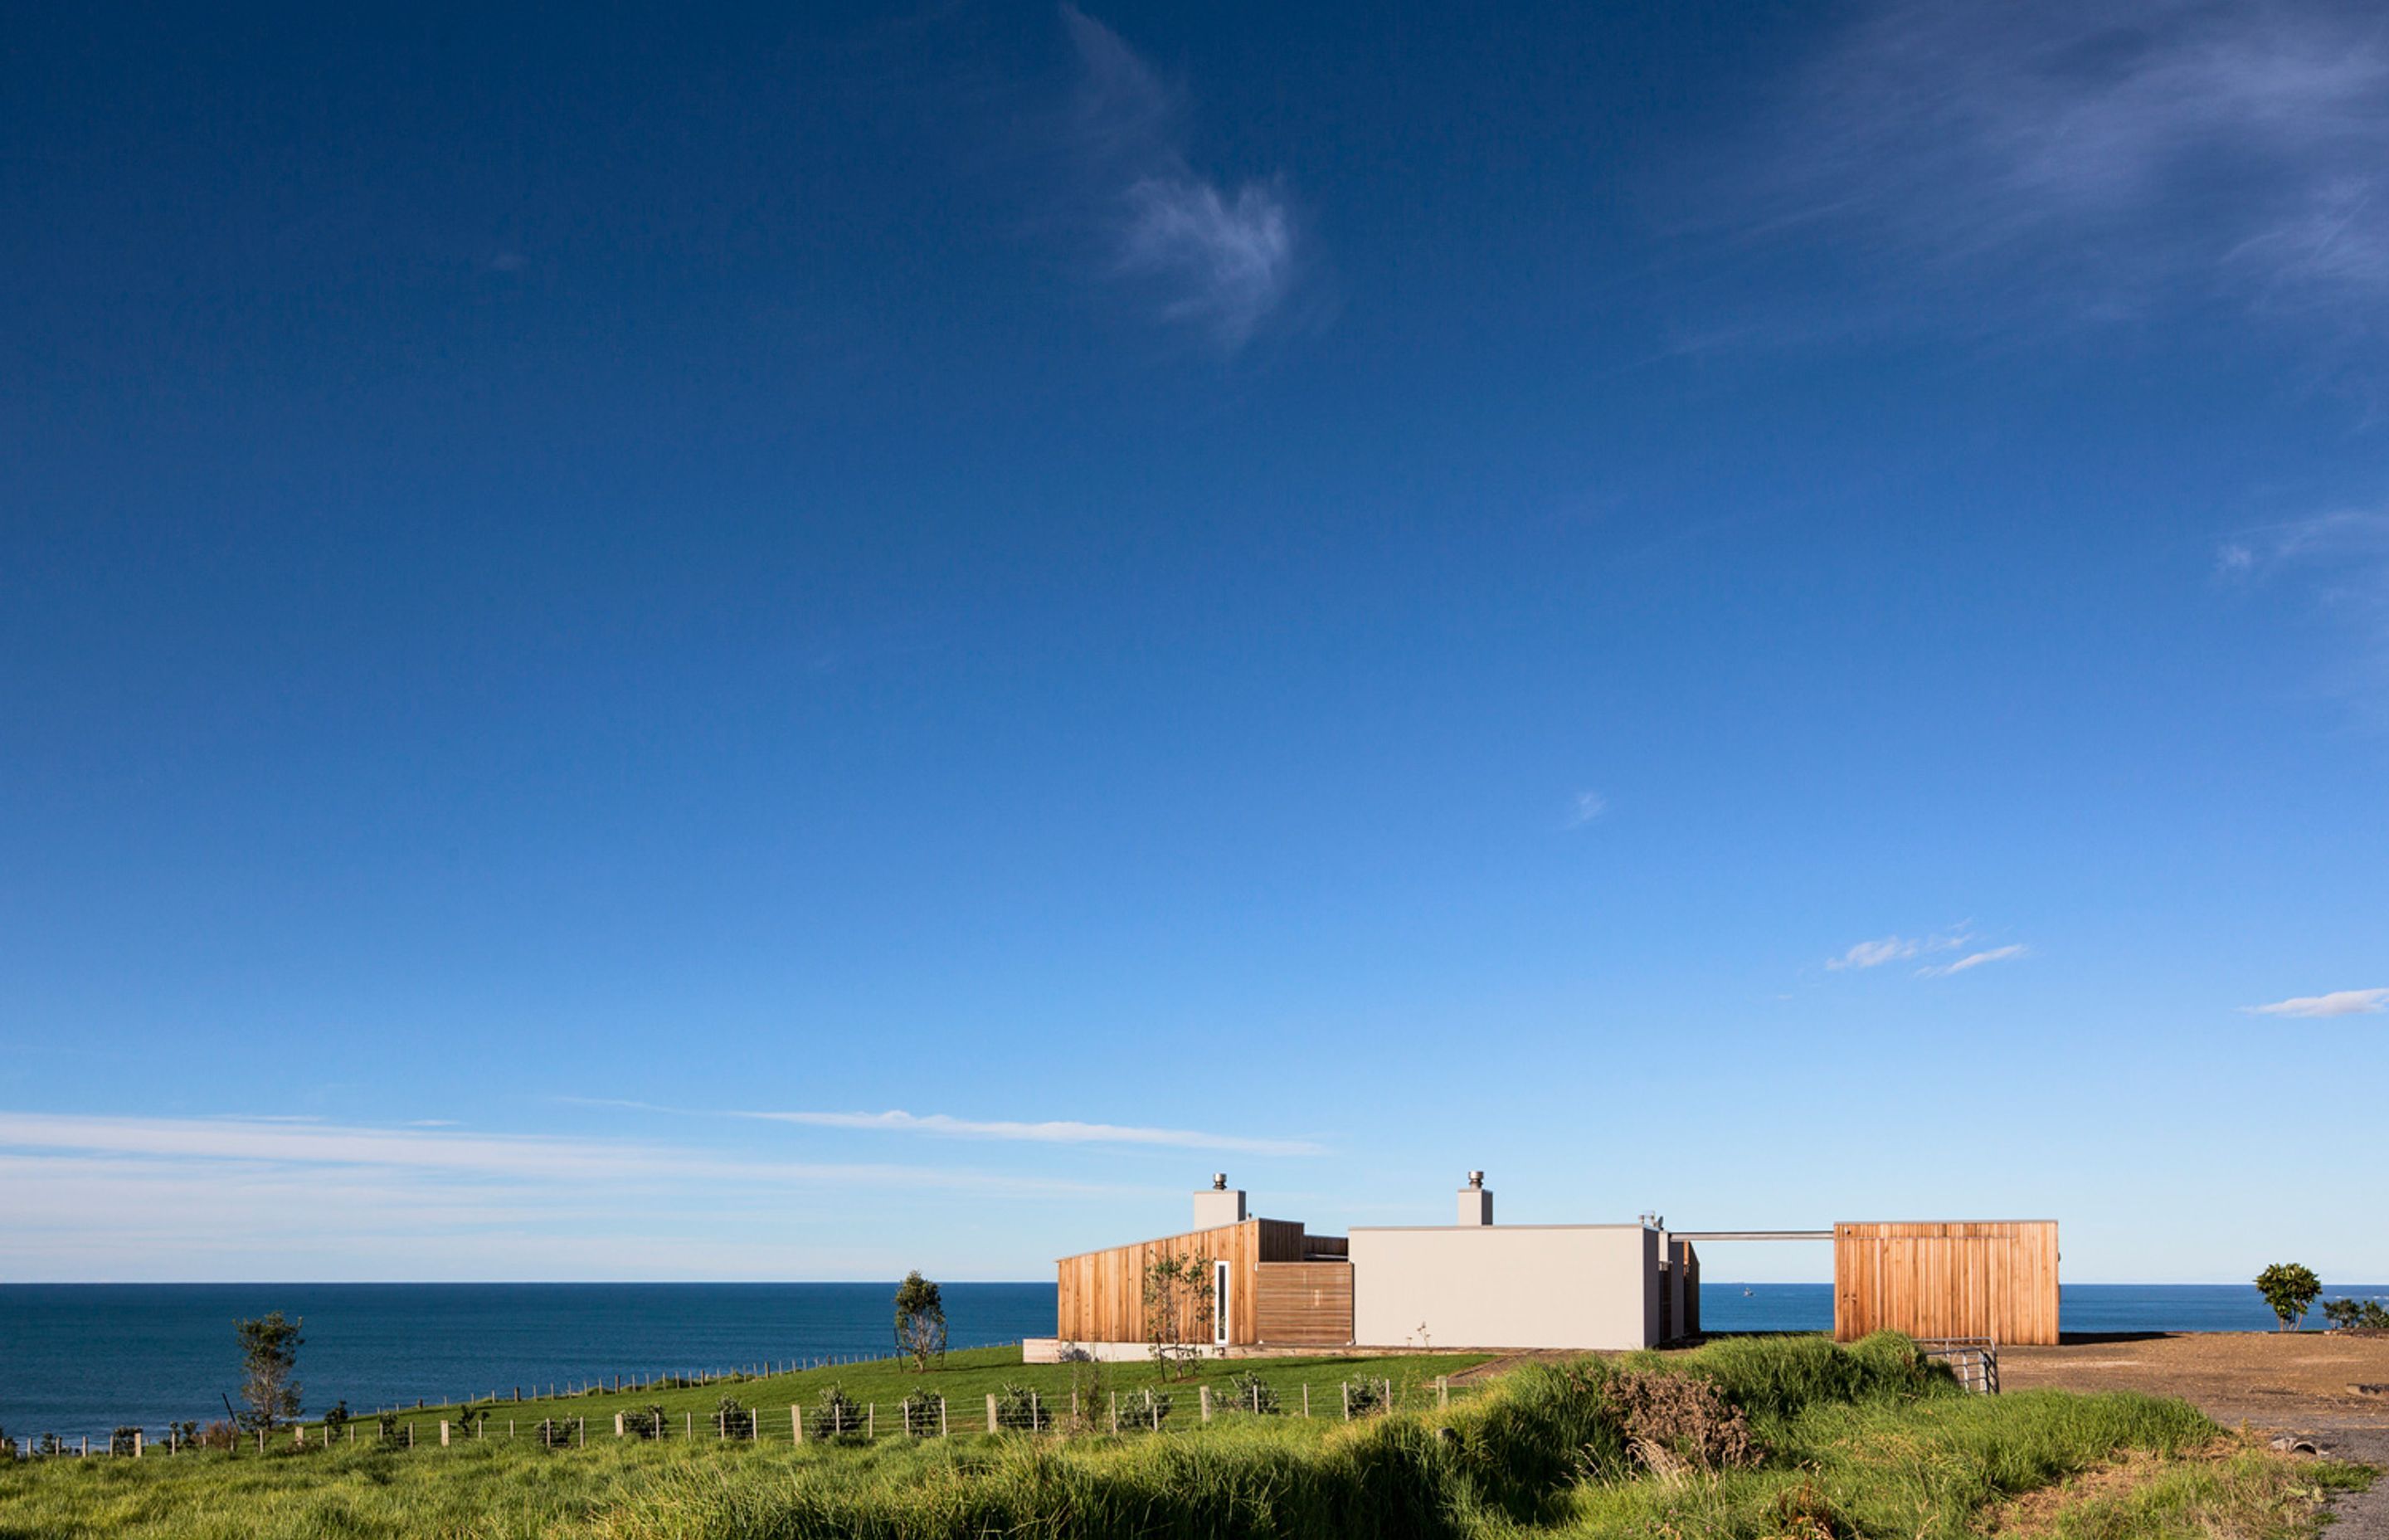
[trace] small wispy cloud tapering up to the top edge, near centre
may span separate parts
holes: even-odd
[[[1307,237],[1281,177],[1233,189],[1187,160],[1183,91],[1075,5],[1061,7],[1080,62],[1075,151],[1092,179],[1113,277],[1156,316],[1240,352],[1288,311]]]

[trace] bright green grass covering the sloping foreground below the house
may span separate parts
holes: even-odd
[[[1954,1540],[1980,1533],[2002,1502],[2124,1454],[2133,1454],[2143,1480],[2059,1507],[2043,1533],[2286,1540],[2313,1533],[2315,1492],[2363,1480],[2346,1466],[2231,1447],[2181,1401],[1966,1397],[1890,1337],[1854,1349],[1744,1339],[1691,1353],[1534,1365],[1438,1406],[1436,1375],[1464,1363],[1297,1358],[1206,1368],[1214,1385],[1261,1368],[1288,1411],[1304,1380],[1314,1411],[1324,1411],[1319,1387],[1362,1373],[1407,1387],[1410,1408],[1355,1423],[1223,1413],[1204,1425],[1180,1385],[1161,1435],[616,1442],[614,1408],[647,1397],[571,1397],[526,1401],[516,1425],[526,1413],[588,1416],[585,1449],[542,1449],[526,1437],[440,1449],[418,1435],[411,1452],[358,1442],[263,1459],[26,1461],[0,1468],[0,1540]],[[1746,1416],[1763,1461],[1699,1468],[1629,1444],[1608,1389],[1620,1363],[1713,1382]],[[1070,1373],[958,1353],[927,1380],[956,1408],[975,1401],[984,1428],[989,1389],[1037,1382],[1061,1399]],[[1089,1399],[1089,1365],[1075,1373]],[[1104,1397],[1154,1382],[1151,1365],[1106,1365],[1101,1375]],[[786,1418],[788,1401],[812,1404],[829,1380],[882,1408],[920,1385],[898,1365],[846,1365],[652,1399],[702,1420],[729,1389]],[[435,1420],[430,1411],[418,1416]]]

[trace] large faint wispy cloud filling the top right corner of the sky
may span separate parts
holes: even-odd
[[[2078,318],[2231,299],[2372,328],[2389,297],[2389,33],[2310,0],[1863,10],[1765,122],[1737,208]]]

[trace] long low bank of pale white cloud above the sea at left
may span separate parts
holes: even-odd
[[[0,1234],[29,1279],[889,1275],[886,1236],[755,1222],[846,1212],[855,1188],[1027,1210],[1120,1191],[662,1141],[0,1112]]]

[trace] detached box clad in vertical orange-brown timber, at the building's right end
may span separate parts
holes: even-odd
[[[1832,1227],[1832,1337],[2057,1342],[2057,1220]]]

